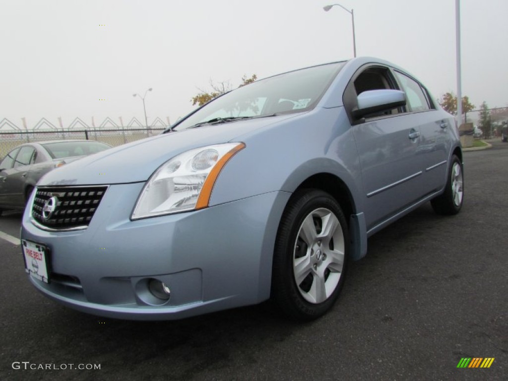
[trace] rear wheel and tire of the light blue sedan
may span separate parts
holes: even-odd
[[[437,214],[453,215],[460,211],[463,200],[463,167],[459,158],[456,155],[453,155],[444,193],[431,200],[430,203]]]

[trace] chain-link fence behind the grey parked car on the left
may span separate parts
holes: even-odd
[[[46,130],[0,132],[0,159],[14,147],[29,142],[49,140],[84,139],[104,142],[112,146],[133,142],[160,134],[164,128],[143,129],[90,129],[90,130]]]

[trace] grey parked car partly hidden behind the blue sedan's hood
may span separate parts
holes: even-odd
[[[5,209],[24,209],[37,181],[57,167],[111,148],[90,140],[25,143],[0,162],[0,215]]]

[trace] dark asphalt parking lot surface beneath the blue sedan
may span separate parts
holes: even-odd
[[[504,380],[508,144],[492,145],[464,153],[461,213],[428,204],[371,237],[334,309],[308,324],[268,303],[176,322],[75,312],[38,294],[0,237],[0,379]],[[5,213],[0,231],[19,237],[20,219]],[[495,360],[457,368],[465,357]]]

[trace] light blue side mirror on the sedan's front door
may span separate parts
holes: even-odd
[[[406,94],[401,90],[368,90],[362,92],[357,99],[358,108],[353,109],[355,119],[406,105]]]

